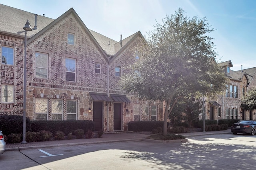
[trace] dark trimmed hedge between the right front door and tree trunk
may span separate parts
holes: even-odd
[[[164,121],[130,121],[128,123],[128,131],[134,132],[151,132],[153,129],[157,129],[158,127],[164,127]]]

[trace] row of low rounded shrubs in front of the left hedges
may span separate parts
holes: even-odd
[[[76,129],[74,131],[75,138],[76,139],[82,139],[82,138],[93,138],[93,132],[88,130],[86,134],[84,133],[83,129]],[[103,131],[97,132],[97,137],[101,137],[103,134]],[[74,139],[74,136],[72,133],[69,133],[67,136],[65,136],[64,132],[62,131],[56,131],[55,134],[53,134],[50,131],[38,131],[38,132],[32,132],[28,131],[26,132],[26,142],[37,142],[37,141],[50,141],[50,140],[65,140],[65,139]],[[11,133],[10,135],[5,135],[4,141],[6,143],[20,143],[22,141],[22,134],[21,133]]]

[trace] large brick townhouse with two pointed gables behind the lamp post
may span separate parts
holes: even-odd
[[[0,115],[30,120],[92,120],[96,130],[127,131],[129,121],[163,120],[162,102],[125,94],[118,82],[136,61],[140,31],[114,41],[89,30],[73,8],[56,20],[0,4]],[[26,92],[24,24],[27,31]],[[32,26],[33,27],[33,26]]]

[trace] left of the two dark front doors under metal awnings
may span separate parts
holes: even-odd
[[[102,102],[93,102],[93,121],[95,131],[102,130]]]

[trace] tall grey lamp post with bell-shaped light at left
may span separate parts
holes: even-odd
[[[29,21],[26,22],[23,27],[25,30],[25,38],[24,38],[24,78],[23,78],[23,134],[22,134],[22,144],[26,142],[26,86],[27,86],[27,31],[32,31],[32,27],[30,26]]]

